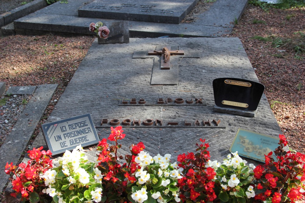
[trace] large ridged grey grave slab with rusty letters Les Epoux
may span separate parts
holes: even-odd
[[[200,58],[179,60],[177,85],[151,85],[154,59],[132,58],[133,54],[174,44],[179,44],[181,51],[198,51]],[[212,82],[221,77],[258,82],[238,38],[130,38],[129,44],[103,45],[95,40],[48,122],[90,114],[100,139],[109,136],[110,122],[123,126],[126,137],[120,141],[120,153],[129,152],[133,143],[143,142],[147,152],[170,153],[172,160],[192,152],[196,142],[204,138],[210,144],[211,159],[221,161],[230,153],[239,128],[277,137],[281,131],[265,95],[255,117],[213,111]],[[182,98],[185,103],[154,105],[168,98]],[[188,104],[187,98],[201,98],[206,105]],[[146,103],[141,104],[144,100]],[[220,120],[219,125],[213,120]],[[31,147],[46,146],[41,135],[35,143]],[[87,151],[95,159],[95,150]]]

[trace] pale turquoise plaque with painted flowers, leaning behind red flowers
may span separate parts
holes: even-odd
[[[278,142],[279,138],[239,128],[230,152],[237,151],[241,156],[265,162],[264,155],[273,152],[278,147]]]

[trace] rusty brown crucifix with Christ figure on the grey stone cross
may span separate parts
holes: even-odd
[[[170,69],[170,56],[171,55],[184,55],[184,51],[175,50],[170,51],[170,47],[163,47],[162,50],[148,51],[148,55],[160,55],[161,54],[161,69]]]

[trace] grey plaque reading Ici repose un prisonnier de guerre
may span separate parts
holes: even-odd
[[[53,155],[99,142],[90,114],[41,125],[45,142]]]

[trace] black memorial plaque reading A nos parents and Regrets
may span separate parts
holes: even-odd
[[[219,107],[257,110],[265,86],[239,78],[217,78],[213,80],[215,104]]]

